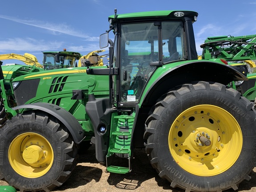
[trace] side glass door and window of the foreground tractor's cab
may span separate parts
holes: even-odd
[[[159,61],[164,64],[183,58],[182,22],[121,25],[120,102],[139,101],[147,81],[156,69],[150,63]]]

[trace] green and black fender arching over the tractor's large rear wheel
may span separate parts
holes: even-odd
[[[248,80],[239,68],[208,60],[194,60],[166,69],[158,68],[152,74],[141,98],[142,105],[153,105],[170,89],[192,81],[212,81],[228,85],[231,81]]]

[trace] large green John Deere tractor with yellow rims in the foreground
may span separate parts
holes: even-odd
[[[172,188],[238,189],[256,166],[256,112],[228,85],[248,80],[222,60],[198,60],[193,11],[115,14],[100,36],[109,66],[62,68],[12,80],[0,128],[0,179],[20,191],[52,191],[95,145],[108,172],[132,171],[135,148]],[[108,33],[114,32],[114,41]],[[86,148],[86,146],[84,147]]]

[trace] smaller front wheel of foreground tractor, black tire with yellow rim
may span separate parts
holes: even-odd
[[[77,146],[55,117],[27,112],[0,129],[0,179],[20,191],[49,192],[76,166]]]

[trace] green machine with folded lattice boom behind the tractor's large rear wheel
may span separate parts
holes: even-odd
[[[241,68],[247,73],[247,81],[233,81],[229,84],[248,100],[256,98],[256,35],[208,37],[201,45],[201,58],[206,60],[224,59],[228,64]]]

